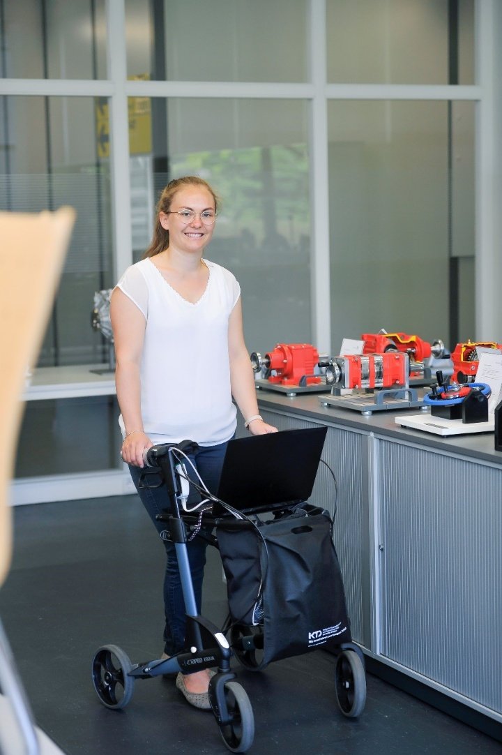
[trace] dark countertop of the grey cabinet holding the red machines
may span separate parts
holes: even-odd
[[[494,450],[494,433],[471,433],[470,435],[443,437],[433,433],[420,432],[396,424],[398,414],[420,414],[419,409],[402,411],[374,411],[364,415],[359,411],[343,407],[322,406],[320,393],[303,393],[287,396],[273,390],[257,390],[258,403],[261,408],[284,410],[289,413],[304,415],[305,418],[319,420],[328,424],[345,426],[351,430],[364,430],[378,436],[387,436],[401,442],[413,442],[426,448],[436,448],[443,453],[455,456],[467,456],[477,461],[502,466],[502,451]]]

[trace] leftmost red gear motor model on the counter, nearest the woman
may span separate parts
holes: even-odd
[[[319,359],[325,356],[320,356],[311,344],[277,344],[265,356],[254,351],[251,365],[254,372],[264,369],[269,383],[307,386],[322,382],[319,374],[314,374]]]

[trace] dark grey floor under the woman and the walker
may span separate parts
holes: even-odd
[[[103,707],[91,658],[113,643],[131,661],[162,643],[164,551],[135,496],[17,507],[14,559],[0,615],[35,720],[68,755],[228,752],[211,713],[195,710],[172,680],[139,680],[122,711]],[[208,550],[204,615],[220,624],[226,594],[219,556]],[[362,716],[344,718],[334,698],[334,659],[316,652],[236,665],[253,705],[251,755],[467,755],[502,744],[368,674]]]

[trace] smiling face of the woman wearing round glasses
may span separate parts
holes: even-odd
[[[177,191],[170,211],[159,214],[162,227],[169,231],[169,248],[202,251],[213,235],[214,211],[213,196],[204,186],[185,186]],[[190,217],[190,213],[195,216]],[[211,220],[211,224],[205,220]]]

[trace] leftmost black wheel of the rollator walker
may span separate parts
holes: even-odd
[[[128,655],[116,645],[104,645],[92,660],[92,683],[98,698],[106,707],[119,710],[131,700],[134,676]]]

